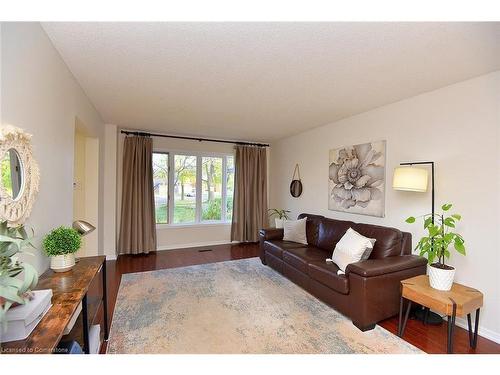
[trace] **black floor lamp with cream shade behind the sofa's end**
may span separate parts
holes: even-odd
[[[394,169],[394,177],[392,187],[394,190],[411,191],[417,193],[427,192],[429,186],[429,171],[425,168],[415,166],[430,165],[431,166],[431,196],[432,196],[432,224],[434,224],[435,211],[435,191],[434,191],[434,162],[433,161],[414,161],[400,163],[400,166]],[[429,309],[417,310],[415,318],[422,320],[424,323],[441,324],[443,319]]]

